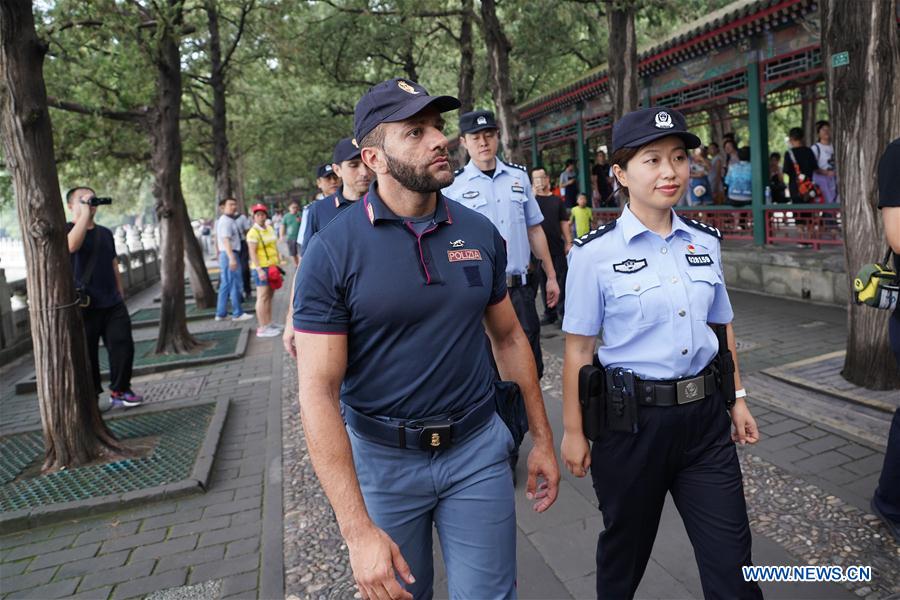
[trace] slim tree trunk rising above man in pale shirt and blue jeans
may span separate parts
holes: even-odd
[[[225,68],[222,64],[222,40],[219,35],[219,11],[215,0],[206,0],[209,22],[209,85],[213,91],[213,175],[216,180],[216,206],[234,195],[231,163],[228,155],[228,118],[225,106]]]

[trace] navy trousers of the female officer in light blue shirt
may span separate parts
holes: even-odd
[[[632,598],[659,528],[666,493],[681,514],[706,598],[762,598],[744,582],[750,525],[731,419],[719,394],[641,407],[637,434],[606,432],[591,448],[605,529],[597,542],[597,597]]]

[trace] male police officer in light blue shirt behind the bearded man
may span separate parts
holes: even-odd
[[[538,281],[528,269],[532,253],[547,275],[547,305],[553,308],[559,300],[556,271],[541,228],[544,216],[534,199],[525,167],[497,158],[499,139],[494,113],[477,110],[463,114],[459,118],[459,133],[471,159],[456,172],[456,179],[444,189],[444,195],[486,216],[506,240],[509,296],[531,344],[538,377],[542,377],[541,322],[535,307]]]

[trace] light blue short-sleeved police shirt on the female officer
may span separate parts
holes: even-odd
[[[719,239],[706,231],[715,230],[692,227],[672,211],[672,232],[663,239],[626,206],[612,231],[582,236],[583,245],[569,252],[563,331],[602,330],[600,363],[643,379],[702,371],[719,350],[707,323],[734,318]]]

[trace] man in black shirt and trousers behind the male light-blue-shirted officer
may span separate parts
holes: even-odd
[[[547,306],[547,276],[543,269],[538,269],[541,298],[544,301],[544,316],[541,325],[555,323],[563,314],[563,302],[566,297],[566,254],[572,247],[572,228],[569,224],[569,212],[558,196],[550,193],[550,177],[544,169],[531,172],[531,186],[534,188],[534,199],[537,200],[544,220],[541,227],[550,248],[550,260],[556,270],[556,281],[559,283],[559,302],[550,308]]]

